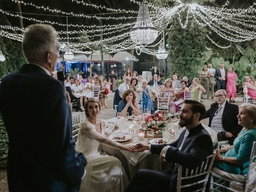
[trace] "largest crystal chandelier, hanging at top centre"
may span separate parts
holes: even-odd
[[[148,6],[144,3],[140,4],[137,21],[134,28],[130,30],[132,41],[136,44],[150,44],[154,42],[158,36],[158,30],[153,26]]]

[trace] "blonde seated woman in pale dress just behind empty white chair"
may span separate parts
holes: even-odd
[[[175,90],[174,87],[172,86],[172,79],[168,78],[164,81],[164,87],[160,90],[160,92],[166,92],[170,93],[170,101],[169,101],[169,112],[175,114],[176,113],[176,106],[173,102],[175,99]],[[162,93],[160,97],[166,97],[167,94]]]

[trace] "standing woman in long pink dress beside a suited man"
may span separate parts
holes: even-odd
[[[227,98],[229,98],[229,102],[235,102],[234,98],[236,98],[236,81],[237,78],[236,73],[234,72],[234,68],[230,67],[227,72],[227,83],[226,83],[226,92]]]

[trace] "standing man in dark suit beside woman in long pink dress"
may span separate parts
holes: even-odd
[[[226,89],[227,72],[228,71],[224,68],[224,64],[220,63],[220,68],[216,69],[214,74],[217,90]]]

